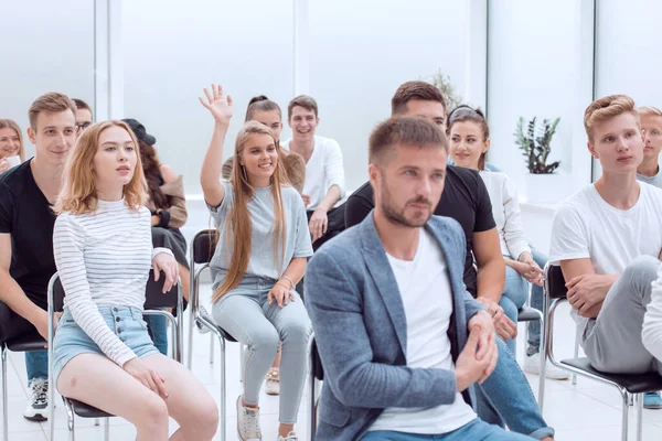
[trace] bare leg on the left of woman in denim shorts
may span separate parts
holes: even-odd
[[[57,389],[67,398],[129,420],[138,430],[137,441],[168,440],[163,399],[103,355],[72,358],[60,374]]]

